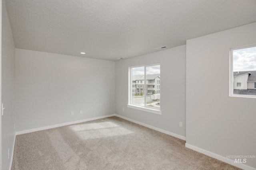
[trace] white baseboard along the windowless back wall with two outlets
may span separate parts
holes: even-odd
[[[96,120],[96,119],[103,119],[103,118],[112,117],[112,116],[115,116],[115,114],[100,116],[100,117],[94,117],[94,118],[90,118],[90,119],[83,119],[83,120],[78,120],[78,121],[72,121],[72,122],[67,122],[67,123],[61,123],[61,124],[58,124],[58,125],[39,127],[39,128],[35,128],[35,129],[28,129],[28,130],[25,130],[25,131],[18,131],[18,132],[16,132],[16,135],[21,135],[21,134],[24,134],[24,133],[30,133],[30,132],[36,132],[36,131],[42,131],[42,130],[46,130],[46,129],[52,129],[52,128],[55,128],[55,127],[72,125],[72,124],[82,123],[82,122],[86,122],[86,121],[92,121],[92,120]]]

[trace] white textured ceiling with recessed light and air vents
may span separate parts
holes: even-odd
[[[6,7],[16,48],[110,61],[256,22],[256,0],[6,0]]]

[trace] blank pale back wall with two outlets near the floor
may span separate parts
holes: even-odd
[[[114,114],[114,82],[112,61],[16,49],[17,131]]]

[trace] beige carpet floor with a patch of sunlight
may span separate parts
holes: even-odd
[[[109,117],[17,135],[12,170],[238,170],[185,141]]]

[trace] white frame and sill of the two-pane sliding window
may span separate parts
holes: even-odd
[[[160,65],[160,63],[139,65],[139,66],[131,66],[131,67],[128,68],[128,82],[129,83],[128,83],[128,105],[127,105],[127,107],[132,108],[132,109],[141,110],[141,111],[146,111],[146,112],[149,112],[149,113],[162,115],[161,107],[160,107],[160,109],[153,109],[153,108],[150,108],[150,107],[137,106],[137,105],[132,104],[132,88],[131,88],[132,87],[132,68],[144,66],[144,75],[145,75],[146,74],[146,67],[155,66],[155,65]],[[160,66],[160,69],[161,69],[161,66]],[[144,84],[145,83],[146,83],[146,76],[144,76]],[[146,88],[144,88],[144,91],[145,90],[146,90]],[[146,92],[144,92],[144,94],[146,94]],[[144,103],[146,103],[146,98],[145,97],[144,97]]]

